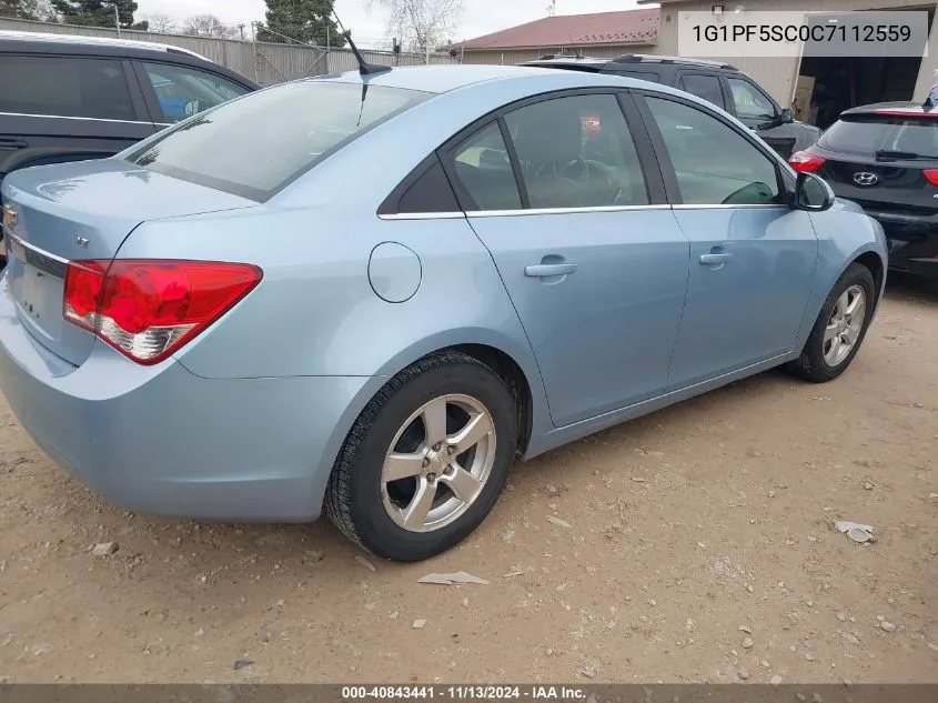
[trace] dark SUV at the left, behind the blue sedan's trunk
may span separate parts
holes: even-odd
[[[258,88],[175,47],[0,32],[0,179],[24,167],[111,157]]]

